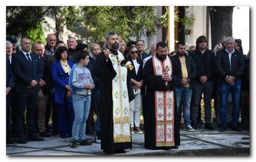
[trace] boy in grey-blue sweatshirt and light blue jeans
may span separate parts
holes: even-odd
[[[78,63],[74,64],[69,77],[69,85],[72,88],[72,101],[75,112],[75,120],[72,127],[71,147],[79,145],[91,145],[86,140],[86,121],[91,105],[91,89],[94,88],[92,76],[86,65],[89,63],[89,53],[78,51]]]

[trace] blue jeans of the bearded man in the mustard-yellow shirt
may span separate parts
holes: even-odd
[[[183,117],[185,126],[190,125],[190,102],[192,96],[192,88],[190,87],[179,87],[175,89],[176,105],[179,112],[179,106],[183,106]],[[182,101],[181,101],[182,100]],[[179,116],[179,115],[178,115]]]

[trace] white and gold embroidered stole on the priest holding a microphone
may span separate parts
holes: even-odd
[[[116,77],[112,80],[113,100],[113,135],[114,143],[131,141],[130,132],[130,103],[127,88],[127,73],[125,66],[120,66],[121,60],[125,59],[119,51],[117,56],[109,54]]]

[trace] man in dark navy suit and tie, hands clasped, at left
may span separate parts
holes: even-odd
[[[22,37],[21,51],[13,55],[12,65],[16,76],[16,96],[17,96],[17,118],[19,138],[18,143],[27,143],[27,140],[43,141],[36,134],[35,129],[35,111],[36,101],[38,99],[39,82],[43,76],[43,70],[40,64],[38,55],[30,53],[29,37]],[[23,128],[24,112],[27,108],[27,126],[29,135],[26,139],[26,134]]]

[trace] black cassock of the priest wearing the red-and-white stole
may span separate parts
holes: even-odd
[[[168,57],[168,56],[167,56]],[[147,85],[146,91],[146,102],[143,105],[144,111],[144,128],[145,128],[145,148],[146,149],[171,149],[171,146],[156,147],[156,113],[155,113],[155,102],[154,102],[154,91],[174,91],[175,87],[181,82],[181,69],[173,64],[171,60],[173,73],[171,75],[172,80],[165,85],[162,80],[162,76],[154,76],[153,70],[153,60],[149,59],[143,71],[144,83]],[[179,117],[175,104],[175,146],[179,146],[180,136],[179,136]]]

